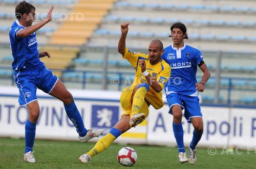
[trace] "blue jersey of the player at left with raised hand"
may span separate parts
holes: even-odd
[[[44,65],[39,60],[36,33],[34,32],[25,38],[17,37],[17,32],[23,29],[25,29],[25,27],[16,20],[13,22],[9,32],[11,50],[14,59],[12,68],[16,71],[21,69],[35,69]]]

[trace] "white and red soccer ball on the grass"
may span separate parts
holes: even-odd
[[[131,147],[123,147],[117,154],[117,160],[125,166],[132,166],[137,160],[137,153]]]

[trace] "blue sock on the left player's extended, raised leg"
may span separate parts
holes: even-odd
[[[64,104],[65,110],[71,122],[76,127],[76,131],[80,137],[83,137],[87,133],[87,129],[84,127],[82,117],[76,107],[75,102],[73,101],[70,104]]]

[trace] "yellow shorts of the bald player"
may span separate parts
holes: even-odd
[[[132,115],[132,94],[133,94],[133,89],[134,89],[135,85],[132,85],[130,87],[127,87],[125,89],[123,89],[121,96],[120,96],[120,103],[121,106],[124,110],[123,115]],[[148,106],[146,104],[146,102],[144,101],[143,106],[140,108],[140,113],[144,113],[146,115],[146,117],[148,116]]]

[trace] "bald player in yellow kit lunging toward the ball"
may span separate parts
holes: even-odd
[[[130,87],[125,88],[120,97],[124,109],[120,120],[108,134],[98,140],[92,150],[79,157],[81,162],[88,162],[91,157],[108,148],[114,140],[131,127],[141,123],[148,115],[148,106],[156,109],[163,106],[162,89],[170,77],[169,65],[161,59],[164,52],[160,40],[153,40],[148,47],[148,54],[135,52],[125,47],[128,25],[121,25],[121,37],[118,51],[135,69],[135,79]]]

